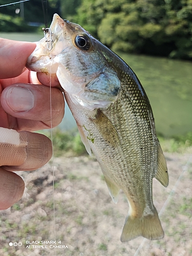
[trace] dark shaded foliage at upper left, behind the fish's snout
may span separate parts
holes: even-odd
[[[1,0],[1,5],[9,3],[11,1]],[[24,17],[20,16],[21,11],[18,14],[16,13],[16,9],[20,9],[20,3],[1,7],[1,13],[4,14],[0,16],[1,31],[22,32],[34,30],[33,27],[27,26],[28,23],[42,24],[41,26],[47,24],[49,26],[54,13],[58,13],[65,19],[72,19],[79,4],[80,0],[30,0],[23,3]]]

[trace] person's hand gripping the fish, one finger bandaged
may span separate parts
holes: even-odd
[[[52,145],[31,133],[51,127],[49,76],[26,70],[35,43],[0,38],[0,209],[23,195],[25,183],[14,170],[34,170],[47,163]],[[32,83],[32,84],[31,84]],[[64,99],[52,75],[52,127],[64,115]]]

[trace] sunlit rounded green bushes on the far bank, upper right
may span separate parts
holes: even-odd
[[[82,0],[75,20],[114,51],[192,58],[192,0]]]

